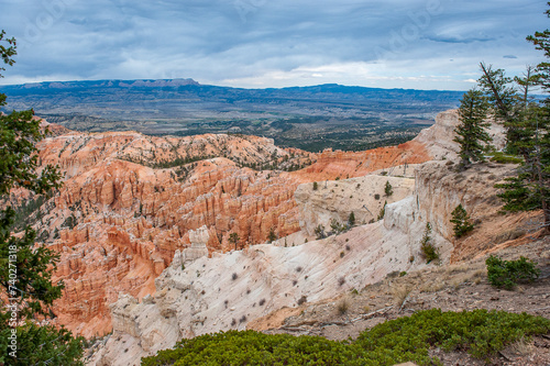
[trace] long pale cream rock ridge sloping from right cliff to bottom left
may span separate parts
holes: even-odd
[[[180,336],[245,329],[251,320],[284,307],[295,308],[300,301],[328,300],[380,281],[389,273],[426,267],[420,243],[428,222],[432,223],[431,243],[438,248],[441,263],[449,263],[457,249],[462,251],[463,243],[450,234],[449,210],[457,201],[462,201],[474,219],[491,220],[496,208],[492,202],[496,190],[482,180],[495,178],[481,179],[480,175],[484,174],[480,173],[488,169],[488,176],[499,174],[503,177],[510,170],[510,166],[492,164],[479,165],[465,173],[451,167],[447,162],[418,166],[415,187],[407,178],[365,176],[366,181],[374,181],[371,187],[378,187],[376,181],[381,179],[394,182],[394,187],[403,185],[399,189],[404,190],[405,198],[388,203],[382,221],[298,246],[253,245],[245,251],[202,257],[185,269],[174,262],[157,278],[152,300],[138,303],[123,297],[112,306],[113,317],[120,317],[123,326],[113,328],[107,347],[91,364],[138,364],[140,356],[172,347]],[[457,179],[461,175],[463,180]],[[328,182],[333,188],[337,184],[339,188],[351,189],[356,187],[358,178]],[[361,185],[366,184],[362,181]],[[300,186],[297,191],[306,204],[306,197],[314,200],[322,197],[322,192],[309,190],[310,186]],[[339,200],[327,200],[326,211],[320,202],[314,207],[320,213],[345,217],[346,208],[355,204],[354,201],[355,197],[345,195]],[[472,211],[472,207],[477,209]],[[493,228],[501,226],[493,223]],[[476,229],[472,235],[486,231],[487,228]],[[492,243],[490,240],[477,245]],[[134,306],[127,307],[129,301]],[[167,336],[161,340],[157,334]],[[154,343],[147,342],[153,339]],[[120,356],[116,350],[122,346],[130,346],[136,354]]]

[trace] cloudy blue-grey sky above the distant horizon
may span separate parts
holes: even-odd
[[[465,90],[485,62],[520,74],[550,27],[535,0],[0,0],[18,40],[0,84],[193,78]]]

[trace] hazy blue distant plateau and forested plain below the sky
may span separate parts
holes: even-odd
[[[363,148],[409,138],[438,112],[457,108],[463,95],[336,84],[242,89],[193,79],[48,81],[0,86],[0,92],[8,95],[6,110],[33,108],[37,115],[75,130],[240,132],[308,149]],[[389,132],[397,135],[378,138]]]

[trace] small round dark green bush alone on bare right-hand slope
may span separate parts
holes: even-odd
[[[518,282],[531,282],[540,276],[540,269],[535,268],[536,263],[526,257],[517,260],[503,260],[490,256],[485,264],[491,285],[508,290],[512,290]]]

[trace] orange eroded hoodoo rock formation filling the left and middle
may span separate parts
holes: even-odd
[[[52,130],[52,127],[51,127]],[[421,143],[366,152],[312,154],[283,149],[256,136],[206,134],[151,137],[136,132],[77,133],[53,129],[40,143],[42,164],[57,164],[64,186],[42,207],[35,229],[61,253],[55,280],[64,297],[59,323],[91,336],[111,330],[109,303],[119,292],[142,298],[189,246],[189,231],[208,228],[210,253],[299,231],[294,192],[299,184],[358,177],[430,154]],[[248,166],[290,164],[297,171]]]

